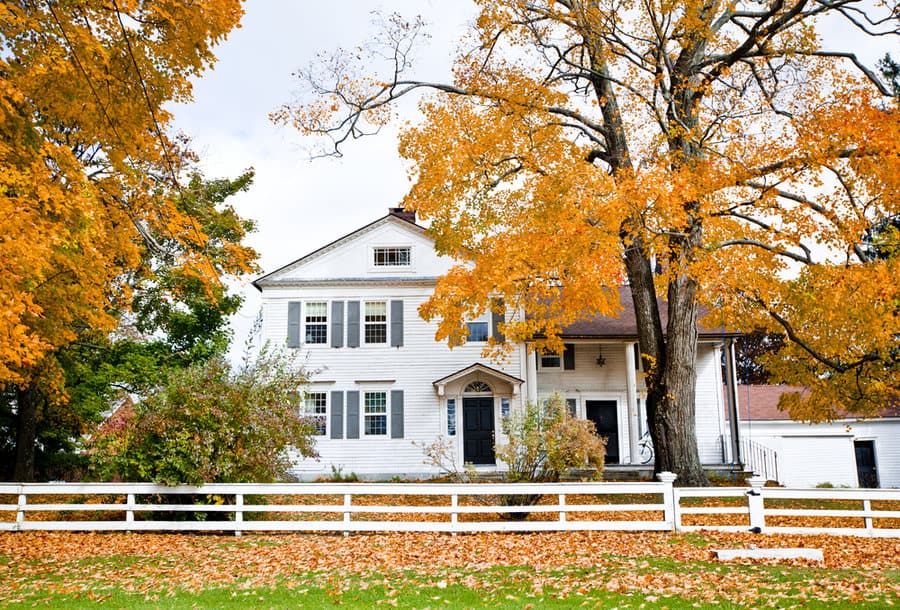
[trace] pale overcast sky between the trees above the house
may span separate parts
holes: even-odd
[[[174,108],[175,124],[193,139],[207,177],[256,170],[250,191],[233,204],[257,222],[248,241],[269,272],[383,216],[409,188],[392,131],[351,143],[341,159],[310,161],[299,134],[273,125],[269,112],[297,90],[292,73],[319,52],[364,42],[371,13],[380,10],[424,17],[431,39],[418,50],[417,73],[446,80],[474,8],[468,0],[249,0],[245,10],[242,27],[218,47],[215,68],[195,83],[194,102]],[[854,48],[846,30],[823,34],[828,48]],[[884,54],[869,43],[854,50],[870,65]],[[245,303],[232,324],[238,352],[260,306],[251,279],[240,287]]]

